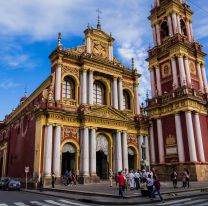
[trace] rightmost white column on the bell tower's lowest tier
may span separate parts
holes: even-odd
[[[200,121],[199,121],[199,114],[197,112],[194,114],[194,121],[195,121],[195,128],[196,128],[196,139],[197,139],[197,145],[198,145],[199,160],[200,162],[205,162],[201,126],[200,126]]]

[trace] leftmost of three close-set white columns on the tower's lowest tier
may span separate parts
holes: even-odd
[[[178,159],[179,162],[185,162],[180,114],[175,114],[175,127],[176,127],[176,138],[177,138],[177,146],[178,146]]]

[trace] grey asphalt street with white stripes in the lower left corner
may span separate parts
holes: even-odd
[[[91,206],[78,201],[27,192],[0,190],[0,206]]]

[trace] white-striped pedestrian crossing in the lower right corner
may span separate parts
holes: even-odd
[[[191,199],[191,198],[185,198],[181,200],[173,200],[173,201],[167,201],[164,203],[160,203],[157,205],[167,205],[167,206],[184,206],[184,205],[194,205],[194,206],[208,206],[208,200],[206,198],[200,198],[199,199]]]

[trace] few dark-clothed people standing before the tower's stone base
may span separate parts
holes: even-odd
[[[189,171],[187,169],[184,169],[181,176],[182,176],[182,187],[189,188],[190,187],[190,183],[189,183],[190,182],[190,173],[189,173]],[[173,182],[173,188],[177,188],[178,173],[177,173],[176,169],[173,169],[170,177]]]

